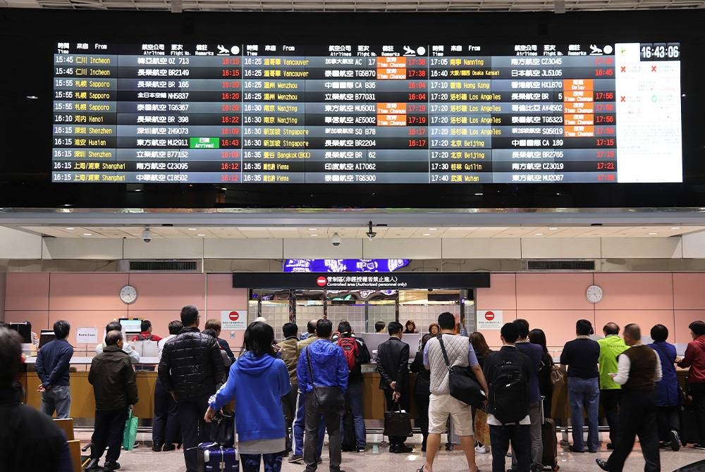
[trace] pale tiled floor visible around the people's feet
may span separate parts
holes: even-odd
[[[78,433],[78,439],[82,442],[90,440],[90,431],[84,430]],[[442,437],[445,441],[445,437]],[[560,438],[559,438],[560,439]],[[186,468],[183,462],[183,452],[152,452],[150,436],[145,433],[140,433],[137,440],[140,441],[140,447],[132,451],[123,451],[120,456],[121,471],[124,472],[185,472]],[[368,435],[368,450],[362,454],[354,452],[343,452],[342,468],[347,472],[413,472],[422,466],[424,458],[420,452],[419,435],[410,438],[407,445],[415,447],[415,451],[411,454],[390,454],[386,445],[379,445],[381,440],[380,435]],[[319,465],[319,471],[328,472],[328,452],[324,447],[323,464]],[[600,472],[599,467],[595,464],[596,458],[607,459],[609,452],[605,447],[597,454],[576,454],[572,452],[564,452],[559,447],[558,462],[561,472]],[[670,449],[661,449],[661,470],[673,471],[676,468],[686,464],[692,464],[695,461],[705,459],[705,452],[692,447],[686,447],[680,452],[673,452]],[[478,454],[477,465],[482,471],[491,471],[491,454]],[[507,466],[510,465],[510,459],[507,459]],[[459,472],[467,470],[465,464],[465,454],[460,449],[453,452],[442,450],[436,457],[434,464],[434,472]],[[300,464],[288,464],[286,459],[281,469],[283,472],[302,472],[304,466]],[[635,451],[632,452],[627,464],[625,472],[641,472],[644,470],[644,459],[639,451],[639,445],[635,446]]]

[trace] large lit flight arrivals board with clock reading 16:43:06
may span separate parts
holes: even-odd
[[[682,182],[680,44],[54,51],[52,182]]]

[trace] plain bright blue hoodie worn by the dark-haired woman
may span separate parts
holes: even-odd
[[[230,368],[228,381],[209,398],[214,410],[235,399],[235,428],[240,442],[284,437],[281,397],[291,388],[281,359],[245,352]]]

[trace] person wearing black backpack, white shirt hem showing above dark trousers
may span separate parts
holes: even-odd
[[[505,323],[500,331],[502,348],[484,361],[484,376],[489,383],[487,424],[492,449],[492,472],[505,472],[505,459],[512,445],[514,469],[531,468],[531,419],[529,418],[529,378],[532,363],[516,347],[519,328]]]

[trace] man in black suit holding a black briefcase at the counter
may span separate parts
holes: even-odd
[[[401,409],[409,411],[409,344],[401,340],[403,326],[392,321],[387,325],[389,339],[377,347],[377,372],[379,388],[384,391],[387,409],[391,411],[396,402]],[[389,452],[412,452],[413,447],[404,444],[405,436],[389,437]]]

